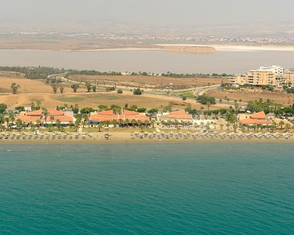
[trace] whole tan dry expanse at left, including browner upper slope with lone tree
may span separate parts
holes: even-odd
[[[11,83],[15,82],[21,86],[16,95],[12,95],[10,90]],[[42,106],[47,108],[55,108],[64,104],[78,104],[80,107],[97,108],[98,105],[104,104],[111,106],[118,104],[124,106],[128,103],[129,106],[135,104],[139,107],[147,109],[167,106],[169,102],[173,102],[173,109],[184,109],[187,104],[192,104],[193,109],[200,109],[202,106],[194,100],[182,101],[177,97],[165,97],[158,95],[133,95],[131,92],[124,91],[123,94],[114,92],[97,92],[86,93],[86,88],[78,88],[77,93],[73,93],[68,85],[64,86],[64,94],[53,94],[50,84],[46,84],[42,79],[26,79],[24,77],[0,77],[0,103],[5,103],[8,107],[15,106],[31,106],[31,102],[40,100]],[[25,91],[26,90],[26,91]],[[211,109],[218,109],[218,105],[211,106]]]

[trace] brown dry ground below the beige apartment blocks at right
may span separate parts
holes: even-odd
[[[225,100],[225,97],[230,100],[242,100],[242,102],[247,102],[249,100],[259,100],[263,101],[274,100],[275,102],[284,104],[286,106],[294,103],[294,94],[288,94],[286,92],[270,92],[259,90],[257,92],[246,92],[246,91],[218,91],[210,90],[207,91],[207,95],[216,97],[217,99]]]

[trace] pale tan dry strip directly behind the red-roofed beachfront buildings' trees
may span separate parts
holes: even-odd
[[[40,100],[42,106],[47,108],[55,108],[56,106],[63,106],[68,104],[78,104],[82,107],[92,107],[97,109],[98,105],[103,104],[111,106],[112,104],[117,104],[119,106],[124,106],[125,104],[137,105],[139,107],[144,107],[147,109],[157,108],[161,109],[163,106],[167,106],[169,102],[173,102],[173,109],[184,109],[187,104],[192,104],[193,109],[200,109],[200,104],[196,103],[193,100],[187,100],[183,102],[180,98],[175,97],[162,97],[155,95],[133,95],[132,93],[123,93],[117,94],[116,92],[112,93],[64,93],[53,94],[44,93],[44,94],[0,94],[0,103],[5,103],[8,107],[15,106],[31,106],[31,102],[36,102]],[[214,105],[210,109],[218,109],[220,106]]]

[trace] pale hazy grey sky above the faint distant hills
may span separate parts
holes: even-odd
[[[0,0],[1,22],[111,20],[145,26],[293,22],[293,0]]]

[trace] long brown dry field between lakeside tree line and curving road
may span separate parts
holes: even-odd
[[[150,86],[164,85],[169,86],[173,84],[174,86],[207,86],[208,84],[220,84],[221,82],[228,82],[227,78],[203,78],[203,77],[159,77],[159,76],[104,76],[104,75],[71,75],[70,80],[74,81],[97,81],[103,82],[107,81],[109,84],[119,85],[119,82],[131,84],[147,84]]]

